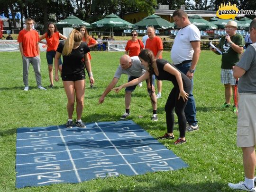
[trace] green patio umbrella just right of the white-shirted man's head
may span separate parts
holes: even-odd
[[[212,24],[211,22],[203,19],[198,15],[193,15],[189,17],[189,20],[192,24],[196,25],[199,30],[209,30],[209,29],[217,29],[217,25]]]

